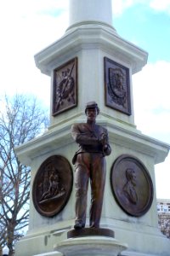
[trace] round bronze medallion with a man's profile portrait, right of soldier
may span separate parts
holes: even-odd
[[[153,184],[140,160],[122,154],[111,167],[111,189],[117,203],[128,214],[139,217],[150,209]]]

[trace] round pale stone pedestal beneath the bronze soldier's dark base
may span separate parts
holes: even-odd
[[[117,256],[127,245],[106,236],[82,236],[61,241],[55,247],[65,256]]]

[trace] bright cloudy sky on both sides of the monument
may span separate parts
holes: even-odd
[[[149,53],[133,75],[137,129],[170,144],[170,0],[112,0],[112,11],[116,32]],[[34,55],[67,27],[68,0],[0,2],[0,97],[33,94],[49,106],[50,78],[37,69]],[[156,165],[157,198],[170,199],[169,183],[170,155]]]

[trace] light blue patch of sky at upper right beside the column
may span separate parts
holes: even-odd
[[[149,52],[149,62],[170,61],[170,15],[166,12],[139,3],[115,17],[113,24],[122,38]]]

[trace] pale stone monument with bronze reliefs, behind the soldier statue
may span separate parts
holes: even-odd
[[[16,256],[170,255],[170,242],[158,230],[154,173],[169,146],[144,136],[134,124],[132,75],[147,56],[112,26],[111,0],[70,0],[64,36],[35,55],[37,67],[51,77],[51,119],[42,137],[16,148],[20,161],[31,166],[30,224]],[[98,124],[111,146],[99,223],[107,232],[88,228],[91,233],[80,234],[80,227],[72,236],[72,157],[78,146],[71,126],[86,122],[87,102],[98,103]],[[90,188],[87,225],[89,199]]]

